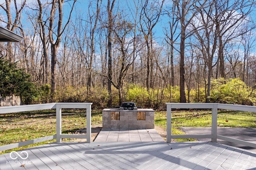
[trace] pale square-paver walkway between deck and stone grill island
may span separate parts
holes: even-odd
[[[164,142],[155,129],[102,128],[94,142]]]

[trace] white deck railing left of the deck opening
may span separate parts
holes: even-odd
[[[26,140],[24,142],[18,142],[14,144],[8,144],[0,146],[0,151],[8,150],[20,146],[26,146],[38,142],[44,142],[46,140],[56,139],[57,142],[61,142],[62,138],[86,138],[86,141],[91,141],[91,105],[92,103],[47,103],[38,105],[22,105],[22,106],[10,106],[0,107],[0,114],[16,113],[24,111],[38,111],[45,109],[56,109],[56,135],[46,136],[42,138],[36,138],[32,140]],[[62,134],[61,130],[61,110],[65,109],[86,109],[86,135],[84,134]]]

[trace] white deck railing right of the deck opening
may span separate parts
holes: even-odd
[[[248,142],[245,140],[239,140],[222,136],[217,134],[217,114],[218,109],[227,109],[234,111],[247,111],[256,112],[255,106],[246,105],[229,105],[218,103],[166,103],[167,107],[167,142],[171,142],[171,139],[177,138],[211,138],[212,142],[217,142],[217,139],[225,140],[228,142],[234,142],[245,146],[256,148],[256,143]],[[211,134],[171,134],[172,133],[172,109],[212,109],[212,133]]]

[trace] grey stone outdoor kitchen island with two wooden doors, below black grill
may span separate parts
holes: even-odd
[[[153,109],[121,110],[104,109],[102,111],[102,128],[154,128]]]

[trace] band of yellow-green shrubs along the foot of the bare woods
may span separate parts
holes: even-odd
[[[240,79],[212,79],[210,102],[211,103],[236,103],[241,105],[256,105],[256,90],[248,87]],[[30,88],[33,90],[33,88]],[[39,103],[46,103],[50,99],[50,85],[42,85],[39,87],[38,93],[33,93],[30,98],[26,98],[27,102],[31,100],[38,101]],[[30,93],[30,91],[27,91]],[[32,91],[31,93],[32,94]],[[56,92],[56,102],[90,102],[94,103],[96,107],[106,107],[109,94],[108,90],[101,86],[92,87],[87,93],[86,87],[79,89],[68,86],[65,89],[58,87]],[[180,102],[180,88],[165,87],[160,89],[147,89],[140,85],[124,85],[122,91],[124,101],[132,101],[137,105],[143,107],[163,108],[164,103],[179,103]],[[150,100],[150,106],[148,106]],[[205,89],[202,85],[199,90],[191,89],[190,103],[204,103],[205,102]],[[112,105],[119,105],[118,89],[112,87]]]

